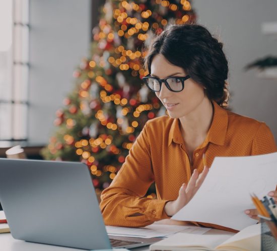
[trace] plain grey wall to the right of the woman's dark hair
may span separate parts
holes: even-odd
[[[277,140],[277,79],[243,71],[249,62],[277,56],[277,35],[263,35],[261,24],[277,22],[277,1],[195,0],[198,23],[220,35],[230,63],[230,106],[234,112],[265,121]]]

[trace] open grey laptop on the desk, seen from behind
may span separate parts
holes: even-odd
[[[0,159],[0,201],[16,239],[83,249],[161,240],[108,236],[84,163]]]

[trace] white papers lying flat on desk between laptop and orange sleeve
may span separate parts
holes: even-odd
[[[199,234],[209,231],[211,228],[203,228],[197,226],[175,226],[163,224],[151,224],[146,227],[119,227],[119,226],[106,226],[108,235],[114,236],[127,236],[127,237],[165,237],[180,231],[197,232]]]

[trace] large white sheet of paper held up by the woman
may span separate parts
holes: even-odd
[[[262,198],[277,183],[277,153],[217,157],[192,200],[172,219],[214,223],[236,230],[255,224],[244,211],[255,208],[250,193]]]

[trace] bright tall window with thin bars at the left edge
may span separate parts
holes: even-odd
[[[0,5],[0,141],[27,140],[29,0]]]

